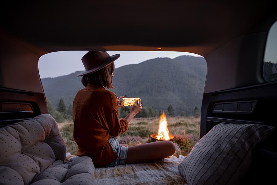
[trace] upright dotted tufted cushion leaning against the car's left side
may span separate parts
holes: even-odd
[[[56,160],[64,160],[66,145],[50,114],[0,128],[0,177],[4,184],[30,184]]]

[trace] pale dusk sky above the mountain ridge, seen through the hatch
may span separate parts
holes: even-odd
[[[59,51],[42,55],[38,61],[38,70],[41,78],[68,75],[75,71],[85,70],[82,64],[82,56],[88,51]],[[115,68],[123,65],[138,64],[145,60],[157,57],[169,57],[171,59],[181,55],[199,56],[187,52],[175,51],[107,51],[109,55],[120,54],[115,60]]]

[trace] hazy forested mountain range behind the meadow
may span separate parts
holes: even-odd
[[[115,61],[116,62],[116,61]],[[46,97],[54,106],[62,97],[66,106],[83,88],[76,71],[66,76],[43,78]],[[139,64],[125,65],[114,71],[113,84],[117,96],[140,97],[143,106],[166,110],[171,104],[175,114],[193,113],[201,108],[207,72],[203,57],[183,55],[175,59],[155,58]]]

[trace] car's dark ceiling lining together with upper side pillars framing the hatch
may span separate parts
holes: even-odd
[[[204,93],[260,84],[274,2],[9,1],[1,6],[0,87],[43,93],[38,59],[49,52],[157,47],[204,56]]]

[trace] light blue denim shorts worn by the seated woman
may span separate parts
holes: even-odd
[[[115,159],[113,162],[111,162],[105,167],[114,167],[116,165],[126,164],[128,147],[120,146],[117,138],[113,136],[110,137],[109,143],[119,158]]]

